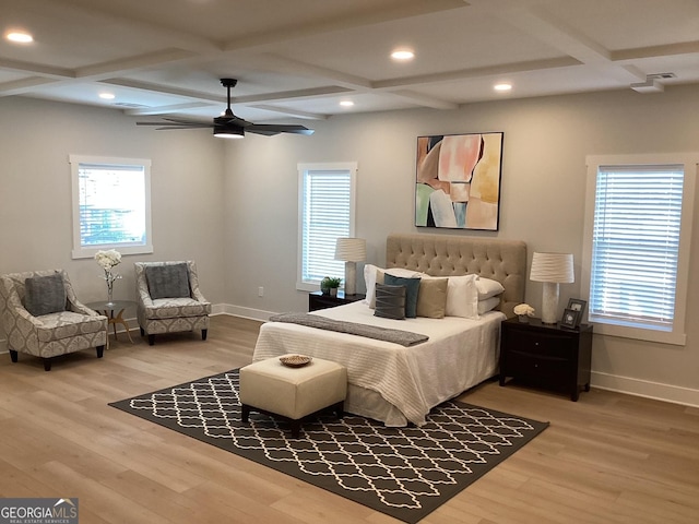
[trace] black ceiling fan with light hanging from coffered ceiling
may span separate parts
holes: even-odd
[[[250,133],[273,136],[279,133],[313,134],[312,129],[296,124],[252,123],[236,117],[230,110],[230,87],[238,83],[236,79],[221,79],[221,84],[226,87],[228,106],[221,117],[215,117],[212,123],[197,122],[194,120],[181,120],[177,118],[164,118],[164,122],[135,122],[137,126],[159,126],[156,130],[170,129],[201,129],[213,128],[214,136],[222,139],[242,139],[246,131]]]

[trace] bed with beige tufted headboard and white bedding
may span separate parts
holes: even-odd
[[[348,376],[345,410],[394,427],[422,426],[433,407],[495,376],[500,322],[524,299],[524,242],[393,234],[387,238],[384,271],[395,269],[422,274],[425,279],[429,278],[426,275],[478,275],[483,282],[500,283],[502,291],[495,309],[470,318],[393,320],[376,317],[369,300],[311,313],[428,337],[408,347],[295,323],[266,322],[260,327],[253,361],[298,353],[340,362]],[[369,276],[374,274],[371,270]],[[450,279],[449,289],[451,282],[464,278],[471,277]]]

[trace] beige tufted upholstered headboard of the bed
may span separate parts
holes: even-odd
[[[524,301],[526,245],[519,240],[447,235],[391,234],[386,266],[407,267],[431,276],[476,273],[505,287],[500,310],[508,317]]]

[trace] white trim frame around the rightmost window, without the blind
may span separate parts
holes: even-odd
[[[672,332],[650,329],[628,327],[618,324],[595,322],[595,333],[620,336],[649,342],[684,346],[687,343],[686,313],[687,289],[689,283],[689,254],[691,251],[691,225],[695,206],[696,180],[699,169],[699,153],[659,153],[640,155],[589,155],[585,157],[588,169],[585,183],[585,214],[582,242],[582,264],[580,271],[581,289],[590,291],[590,264],[592,260],[592,228],[596,193],[599,166],[604,165],[670,165],[683,164],[685,170],[682,229],[679,231],[679,258],[677,261],[677,287],[675,290],[675,317]]]

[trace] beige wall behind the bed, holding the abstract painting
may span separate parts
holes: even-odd
[[[632,91],[474,104],[457,111],[414,110],[352,115],[311,122],[313,136],[248,136],[226,151],[226,263],[232,311],[263,317],[303,310],[295,290],[299,162],[358,162],[357,236],[368,261],[382,264],[391,231],[435,233],[413,226],[416,136],[503,131],[500,230],[473,233],[523,239],[535,250],[572,252],[576,284],[561,285],[561,302],[580,289],[585,156],[699,151],[699,91]],[[697,184],[699,188],[699,184]],[[699,195],[695,199],[699,205]],[[699,274],[699,227],[691,273]],[[464,233],[439,230],[445,235]],[[363,285],[363,283],[360,284]],[[258,287],[265,296],[258,297]],[[526,300],[541,309],[541,284]],[[593,383],[699,405],[699,299],[689,293],[687,346],[595,337]],[[562,308],[561,303],[561,308]]]

